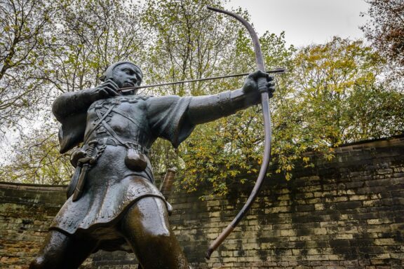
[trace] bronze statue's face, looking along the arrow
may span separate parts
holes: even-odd
[[[128,88],[142,83],[142,74],[133,64],[119,64],[114,68],[112,80],[119,88]]]

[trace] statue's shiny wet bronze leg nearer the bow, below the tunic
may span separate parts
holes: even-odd
[[[188,269],[187,258],[168,223],[165,202],[147,197],[130,207],[121,229],[144,269]]]

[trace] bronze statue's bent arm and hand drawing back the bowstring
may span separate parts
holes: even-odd
[[[118,86],[114,81],[107,80],[96,88],[79,90],[78,92],[65,92],[55,99],[52,106],[53,115],[59,121],[74,113],[86,112],[93,102],[119,95]]]

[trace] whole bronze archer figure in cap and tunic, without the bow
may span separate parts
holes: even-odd
[[[132,62],[116,62],[96,88],[66,92],[53,103],[60,121],[60,152],[72,153],[76,170],[68,199],[50,226],[30,268],[78,268],[93,252],[133,252],[144,269],[189,268],[168,223],[170,205],[154,185],[149,150],[158,137],[180,145],[201,123],[229,116],[260,102],[250,74],[242,88],[198,97],[122,93],[138,86],[142,71]]]

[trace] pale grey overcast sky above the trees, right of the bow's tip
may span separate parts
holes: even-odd
[[[288,44],[295,46],[325,43],[332,36],[363,37],[358,27],[367,18],[363,0],[229,0],[227,7],[244,8],[259,35],[285,31]]]

